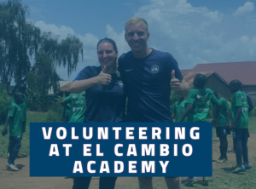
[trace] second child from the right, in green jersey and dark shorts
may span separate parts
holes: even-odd
[[[230,105],[228,101],[224,98],[218,98],[218,93],[214,92],[214,95],[219,100],[221,104],[221,111],[219,112],[218,117],[218,126],[216,128],[216,135],[219,138],[219,151],[220,151],[220,158],[218,158],[218,163],[224,163],[228,160],[227,158],[227,150],[228,150],[228,140],[227,135],[230,135],[230,127],[226,127],[228,123],[228,117],[230,114]],[[213,106],[213,116],[215,114],[216,106]]]

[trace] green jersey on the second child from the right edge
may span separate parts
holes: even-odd
[[[221,109],[218,116],[218,127],[224,127],[228,120],[228,111],[230,110],[230,105],[227,100],[220,98],[219,102],[221,104]],[[215,117],[216,105],[213,105],[213,117]]]

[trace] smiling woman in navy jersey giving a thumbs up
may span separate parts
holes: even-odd
[[[118,72],[118,50],[110,38],[103,38],[97,44],[98,60],[101,66],[87,66],[70,85],[71,93],[85,92],[87,109],[84,122],[125,122],[125,85]],[[73,189],[90,186],[91,177],[75,177]],[[113,189],[117,177],[101,177],[100,189]]]

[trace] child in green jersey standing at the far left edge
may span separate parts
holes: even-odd
[[[19,169],[15,166],[15,158],[20,150],[21,139],[23,134],[23,112],[21,111],[20,104],[24,101],[24,94],[15,92],[15,103],[12,103],[8,116],[6,117],[5,126],[2,135],[7,134],[7,128],[9,125],[9,159],[6,163],[8,169]]]

